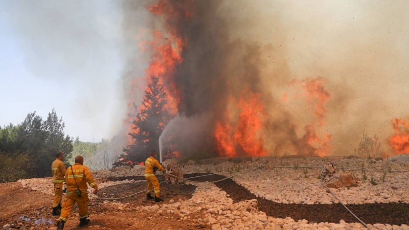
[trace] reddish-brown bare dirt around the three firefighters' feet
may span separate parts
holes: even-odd
[[[119,186],[107,187],[100,190],[100,193],[109,194],[111,191],[122,190],[130,192],[135,189],[146,187],[145,183],[132,185],[127,183]],[[132,189],[132,190],[130,190]],[[179,193],[179,190],[185,190]],[[188,191],[188,193],[186,193]],[[190,191],[190,192],[189,192]],[[171,185],[164,186],[167,200],[189,199],[194,188],[187,187],[178,189]],[[138,205],[154,205],[153,201],[146,202],[145,194],[121,200],[127,202],[131,207],[129,210],[119,211],[107,209],[103,200],[92,200],[89,203],[91,213],[91,223],[85,227],[79,227],[78,208],[75,206],[70,218],[65,223],[64,229],[210,229],[205,222],[192,222],[190,219],[182,220],[176,214],[157,215],[150,212],[139,212],[132,207]],[[56,229],[55,221],[58,217],[52,216],[52,195],[43,195],[37,191],[22,189],[18,182],[0,184],[0,227],[9,224],[9,228],[17,229]],[[192,218],[203,218],[204,216],[194,216]],[[7,229],[7,228],[6,228]]]

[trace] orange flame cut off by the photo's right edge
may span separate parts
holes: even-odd
[[[398,154],[409,153],[409,121],[395,118],[392,125],[395,135],[390,137],[389,145]]]

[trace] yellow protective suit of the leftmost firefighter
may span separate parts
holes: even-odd
[[[65,175],[65,165],[59,158],[56,158],[51,164],[51,172],[53,173],[53,183],[54,183],[54,199],[53,208],[58,207],[62,199],[62,183]]]

